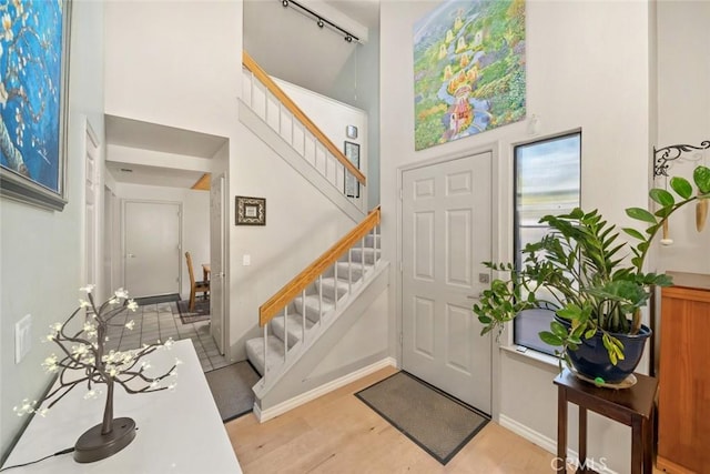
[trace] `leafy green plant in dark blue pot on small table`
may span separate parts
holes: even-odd
[[[485,290],[473,311],[484,325],[481,335],[499,336],[506,323],[520,312],[547,307],[555,312],[550,330],[540,339],[554,346],[560,370],[562,361],[585,379],[620,383],[638,365],[651,331],[641,324],[640,309],[653,285],[672,283],[665,274],[646,272],[651,242],[668,218],[692,202],[704,222],[710,200],[710,169],[697,167],[693,184],[683,178],[670,180],[671,191],[652,189],[655,212],[629,208],[627,215],[646,225],[643,231],[623,229],[632,243],[622,242],[616,225],[599,212],[575,209],[568,214],[546,215],[540,223],[550,231],[523,250],[521,268],[513,263],[485,262],[507,273]]]

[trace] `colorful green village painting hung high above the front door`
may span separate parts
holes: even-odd
[[[525,0],[448,0],[414,26],[424,150],[525,118]]]

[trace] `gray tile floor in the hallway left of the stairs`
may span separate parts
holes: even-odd
[[[133,330],[124,326],[131,320],[135,321]],[[138,349],[142,344],[151,344],[156,340],[166,341],[169,337],[175,341],[191,339],[204,372],[230,364],[227,359],[220,354],[210,334],[210,321],[183,324],[176,302],[139,306],[135,312],[126,311],[113,322],[114,325],[108,331],[109,350]]]

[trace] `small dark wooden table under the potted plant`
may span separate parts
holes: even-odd
[[[587,460],[587,410],[631,426],[631,474],[651,474],[653,470],[653,416],[658,380],[635,374],[630,389],[597,387],[565,370],[555,379],[557,392],[557,456],[567,458],[567,402],[579,406],[579,465]],[[566,464],[557,472],[566,472]],[[594,472],[585,468],[578,472]]]

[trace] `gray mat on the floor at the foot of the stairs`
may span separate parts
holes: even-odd
[[[223,422],[229,422],[252,411],[252,387],[261,379],[248,361],[237,362],[204,374]]]

